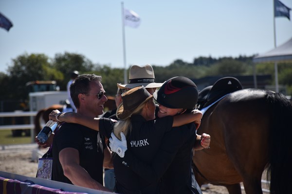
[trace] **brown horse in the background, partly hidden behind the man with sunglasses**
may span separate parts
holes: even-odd
[[[107,96],[108,101],[105,102],[104,104],[104,110],[105,111],[110,111],[116,108],[116,104],[115,104],[115,100],[114,97],[111,96]],[[35,117],[35,136],[37,136],[37,134],[40,132],[40,130],[42,129],[42,127],[40,126],[40,118],[42,118],[42,120],[47,123],[49,121],[49,114],[53,111],[53,110],[58,110],[60,112],[63,111],[63,108],[65,107],[65,105],[63,104],[54,104],[52,106],[49,106],[47,108],[41,109],[37,112],[37,115]]]

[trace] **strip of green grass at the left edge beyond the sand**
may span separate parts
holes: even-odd
[[[31,137],[22,136],[12,137],[11,130],[0,130],[0,145],[13,145],[13,144],[30,144]]]

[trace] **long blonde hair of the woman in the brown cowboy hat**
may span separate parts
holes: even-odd
[[[137,109],[135,109],[131,115],[140,114],[142,112],[142,109],[150,100],[153,101],[153,98],[150,98],[149,100],[145,101],[143,104],[138,106]],[[123,132],[127,137],[128,132],[131,132],[131,130],[132,130],[131,117],[128,117],[127,119],[120,120],[115,124],[113,128],[113,133],[119,140],[121,140],[121,132]]]

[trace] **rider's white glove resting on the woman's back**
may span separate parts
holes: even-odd
[[[121,158],[124,158],[127,151],[127,140],[123,132],[121,132],[121,140],[119,140],[113,133],[110,134],[110,149],[117,153]]]

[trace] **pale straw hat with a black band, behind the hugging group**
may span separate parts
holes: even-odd
[[[121,89],[134,88],[143,85],[145,88],[161,87],[163,83],[156,83],[154,71],[151,65],[139,66],[132,65],[129,72],[129,83],[119,84],[117,86]]]

